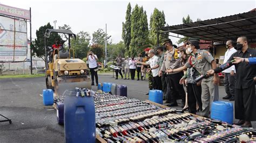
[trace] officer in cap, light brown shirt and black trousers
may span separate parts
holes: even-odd
[[[181,58],[178,57],[178,49],[174,48],[172,45],[172,41],[170,39],[167,39],[164,41],[163,44],[166,48],[166,52],[164,54],[164,61],[161,66],[161,69],[159,71],[159,76],[163,76],[163,72],[166,69],[176,69],[181,66]],[[185,106],[185,91],[183,89],[183,86],[179,84],[179,80],[182,77],[182,74],[180,71],[178,72],[166,72],[166,82],[167,82],[167,106],[178,106],[177,100],[176,100],[176,94],[178,93],[179,97],[182,99],[182,108]]]

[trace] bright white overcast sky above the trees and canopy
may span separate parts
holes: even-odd
[[[122,22],[125,22],[127,4],[132,8],[136,4],[143,6],[147,13],[148,23],[154,8],[164,11],[166,23],[182,24],[182,18],[188,14],[195,21],[230,16],[248,12],[256,8],[256,0],[252,1],[26,1],[0,0],[1,4],[32,11],[32,38],[36,38],[36,30],[40,26],[57,20],[56,27],[68,24],[74,33],[87,31],[92,36],[98,28],[112,35],[114,43],[122,40]],[[29,25],[28,25],[29,27]],[[28,28],[29,29],[29,28]],[[29,32],[29,31],[28,31]],[[28,35],[29,37],[29,35]],[[171,37],[170,37],[171,38]],[[171,38],[176,42],[178,38]]]

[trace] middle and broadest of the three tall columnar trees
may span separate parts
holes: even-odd
[[[135,56],[138,52],[143,51],[142,46],[145,43],[140,39],[146,39],[148,36],[149,28],[146,11],[136,4],[131,15],[131,44],[127,55]]]

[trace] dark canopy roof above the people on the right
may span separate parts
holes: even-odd
[[[159,30],[160,33],[171,32],[207,41],[226,41],[241,35],[249,41],[256,41],[256,9],[201,22],[161,27]]]

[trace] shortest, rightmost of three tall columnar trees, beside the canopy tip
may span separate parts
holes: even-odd
[[[154,8],[154,12],[150,16],[150,37],[157,37],[157,29],[166,26],[165,24],[164,11],[161,12]],[[167,39],[168,37],[167,34],[159,34],[159,39]]]

